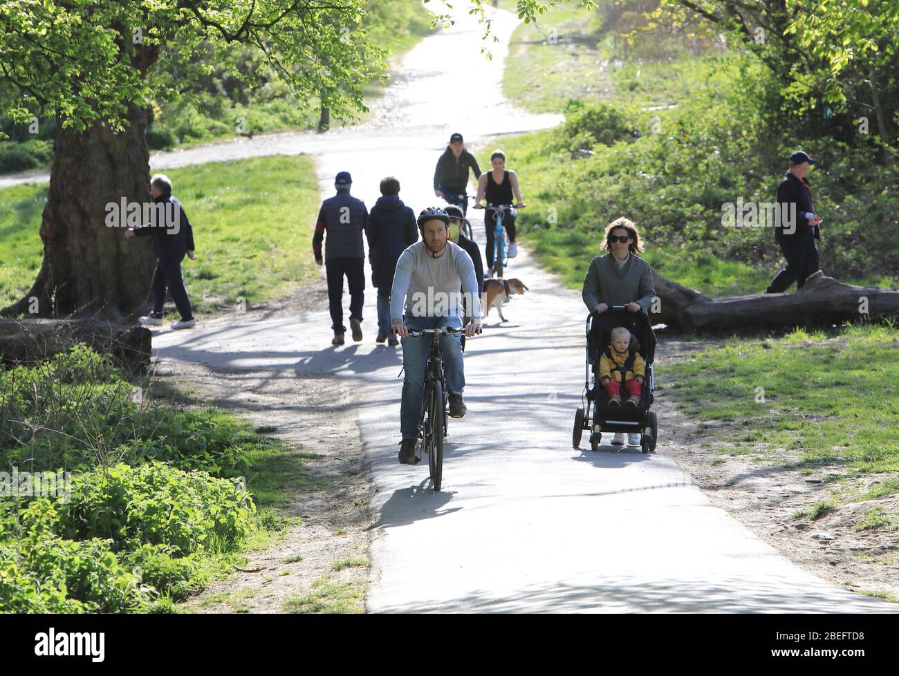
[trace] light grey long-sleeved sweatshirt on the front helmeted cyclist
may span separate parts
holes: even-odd
[[[462,316],[462,293],[469,295],[472,319],[481,318],[475,264],[465,249],[447,242],[443,254],[434,258],[424,242],[416,242],[400,254],[390,291],[390,319],[403,316]]]

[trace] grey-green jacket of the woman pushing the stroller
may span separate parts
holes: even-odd
[[[591,312],[600,303],[610,306],[637,303],[648,315],[655,296],[653,270],[648,262],[634,254],[630,254],[621,270],[612,261],[612,254],[597,256],[583,278],[581,295]]]

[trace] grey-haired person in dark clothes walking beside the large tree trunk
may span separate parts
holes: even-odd
[[[181,262],[186,255],[191,261],[197,260],[193,253],[193,228],[184,213],[181,202],[172,194],[172,182],[164,173],[156,173],[150,179],[150,197],[153,198],[151,222],[145,226],[129,227],[126,239],[153,237],[153,254],[156,255],[156,270],[150,289],[153,292],[153,312],[138,317],[141,324],[161,326],[166,290],[174,300],[174,306],[181,319],[173,322],[173,329],[189,329],[197,324],[193,317],[191,299],[184,289]]]

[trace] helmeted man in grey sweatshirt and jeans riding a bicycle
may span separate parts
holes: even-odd
[[[403,399],[400,405],[399,461],[415,462],[415,440],[422,413],[424,370],[428,364],[430,341],[409,336],[409,330],[462,327],[462,293],[470,302],[471,323],[465,334],[480,334],[481,302],[477,293],[475,266],[460,246],[447,239],[449,216],[439,207],[424,209],[418,216],[422,241],[409,246],[396,262],[390,293],[390,330],[400,336],[403,345]],[[403,314],[405,298],[405,316]],[[459,336],[441,336],[441,352],[447,390],[449,415],[461,418],[466,413],[462,389],[465,369]]]

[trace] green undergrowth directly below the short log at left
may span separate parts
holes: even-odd
[[[84,345],[36,366],[0,370],[0,459],[31,470],[155,460],[241,476],[262,437],[214,409],[142,402],[107,356]]]

